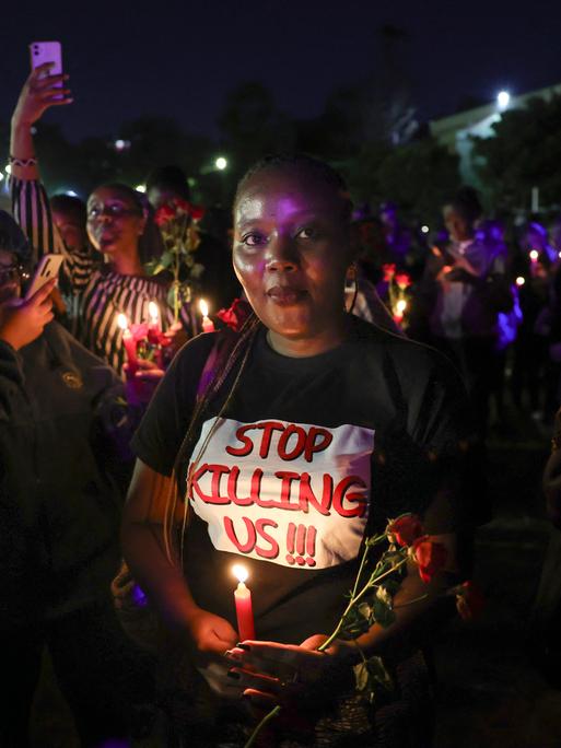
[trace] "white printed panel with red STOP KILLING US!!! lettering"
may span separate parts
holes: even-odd
[[[357,557],[374,431],[262,420],[204,422],[189,466],[194,511],[217,550],[326,569]]]

